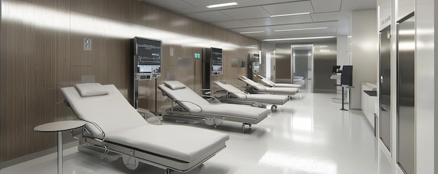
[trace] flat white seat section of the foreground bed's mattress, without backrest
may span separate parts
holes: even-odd
[[[187,162],[199,159],[228,139],[225,133],[206,129],[151,124],[110,133],[106,137],[114,143]]]

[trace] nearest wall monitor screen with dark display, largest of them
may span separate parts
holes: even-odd
[[[137,73],[161,73],[161,41],[136,37]]]

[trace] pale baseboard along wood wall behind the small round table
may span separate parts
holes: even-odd
[[[69,148],[75,147],[75,146],[78,146],[78,140],[75,140],[71,143],[66,143],[62,146],[62,148],[65,150],[65,149],[69,149]],[[51,147],[47,150],[41,150],[41,151],[35,152],[33,154],[27,154],[27,155],[24,155],[22,157],[17,157],[15,159],[10,159],[8,161],[3,161],[3,162],[1,162],[0,167],[7,168],[9,166],[14,166],[15,164],[20,164],[20,163],[23,163],[25,161],[29,161],[31,159],[43,157],[45,155],[52,154],[52,153],[55,153],[57,151],[58,151],[58,147]]]

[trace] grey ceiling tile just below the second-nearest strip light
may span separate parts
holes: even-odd
[[[278,25],[278,24],[297,24],[304,22],[312,22],[310,15],[294,15],[294,16],[284,16],[284,17],[267,17],[253,20],[243,20],[250,26],[268,26],[268,25]]]

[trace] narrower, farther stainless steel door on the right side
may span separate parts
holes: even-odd
[[[391,27],[380,33],[380,138],[391,150]]]

